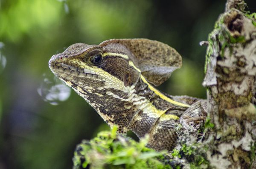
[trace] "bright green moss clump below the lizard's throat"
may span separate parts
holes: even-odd
[[[93,140],[84,140],[76,148],[73,157],[75,169],[88,165],[97,169],[171,169],[162,163],[163,154],[145,146],[147,139],[136,142],[128,137],[116,135],[116,127],[100,132]]]

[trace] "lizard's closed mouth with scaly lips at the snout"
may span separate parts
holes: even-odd
[[[73,76],[78,76],[78,77],[93,77],[97,78],[99,77],[99,73],[94,72],[93,70],[90,69],[81,69],[76,66],[70,66],[65,63],[60,63],[56,62],[55,60],[50,60],[49,61],[49,68],[54,74],[70,74]]]

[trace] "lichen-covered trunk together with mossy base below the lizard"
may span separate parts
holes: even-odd
[[[204,123],[176,126],[177,146],[164,154],[164,158],[153,152],[145,158],[141,154],[149,150],[141,151],[144,149],[141,143],[131,144],[122,137],[110,137],[112,140],[96,137],[77,147],[74,168],[98,164],[91,160],[98,152],[106,161],[101,167],[110,169],[133,169],[136,165],[140,168],[256,169],[256,13],[249,14],[245,8],[244,0],[227,0],[224,14],[204,43],[208,45],[203,82],[207,88],[208,117]],[[115,151],[113,145],[122,146],[117,146]],[[124,155],[127,145],[134,151]],[[105,154],[99,151],[102,149],[99,146],[106,148]],[[164,162],[163,165],[153,165],[159,162],[156,159]]]

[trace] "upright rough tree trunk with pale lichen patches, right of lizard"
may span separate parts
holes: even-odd
[[[211,166],[255,169],[256,24],[243,0],[228,0],[209,35],[208,113],[214,128],[203,143]]]

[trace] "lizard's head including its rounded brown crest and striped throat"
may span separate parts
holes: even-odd
[[[170,56],[172,57],[166,57]],[[99,45],[76,43],[49,60],[51,71],[83,97],[118,132],[136,112],[142,78],[158,86],[181,66],[170,46],[148,39],[113,39]]]

